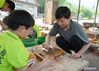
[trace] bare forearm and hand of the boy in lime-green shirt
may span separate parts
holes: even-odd
[[[47,56],[42,62],[36,62],[32,64],[31,66],[25,66],[23,68],[16,69],[16,71],[39,71],[46,65],[49,65],[50,63],[53,62],[53,57]]]

